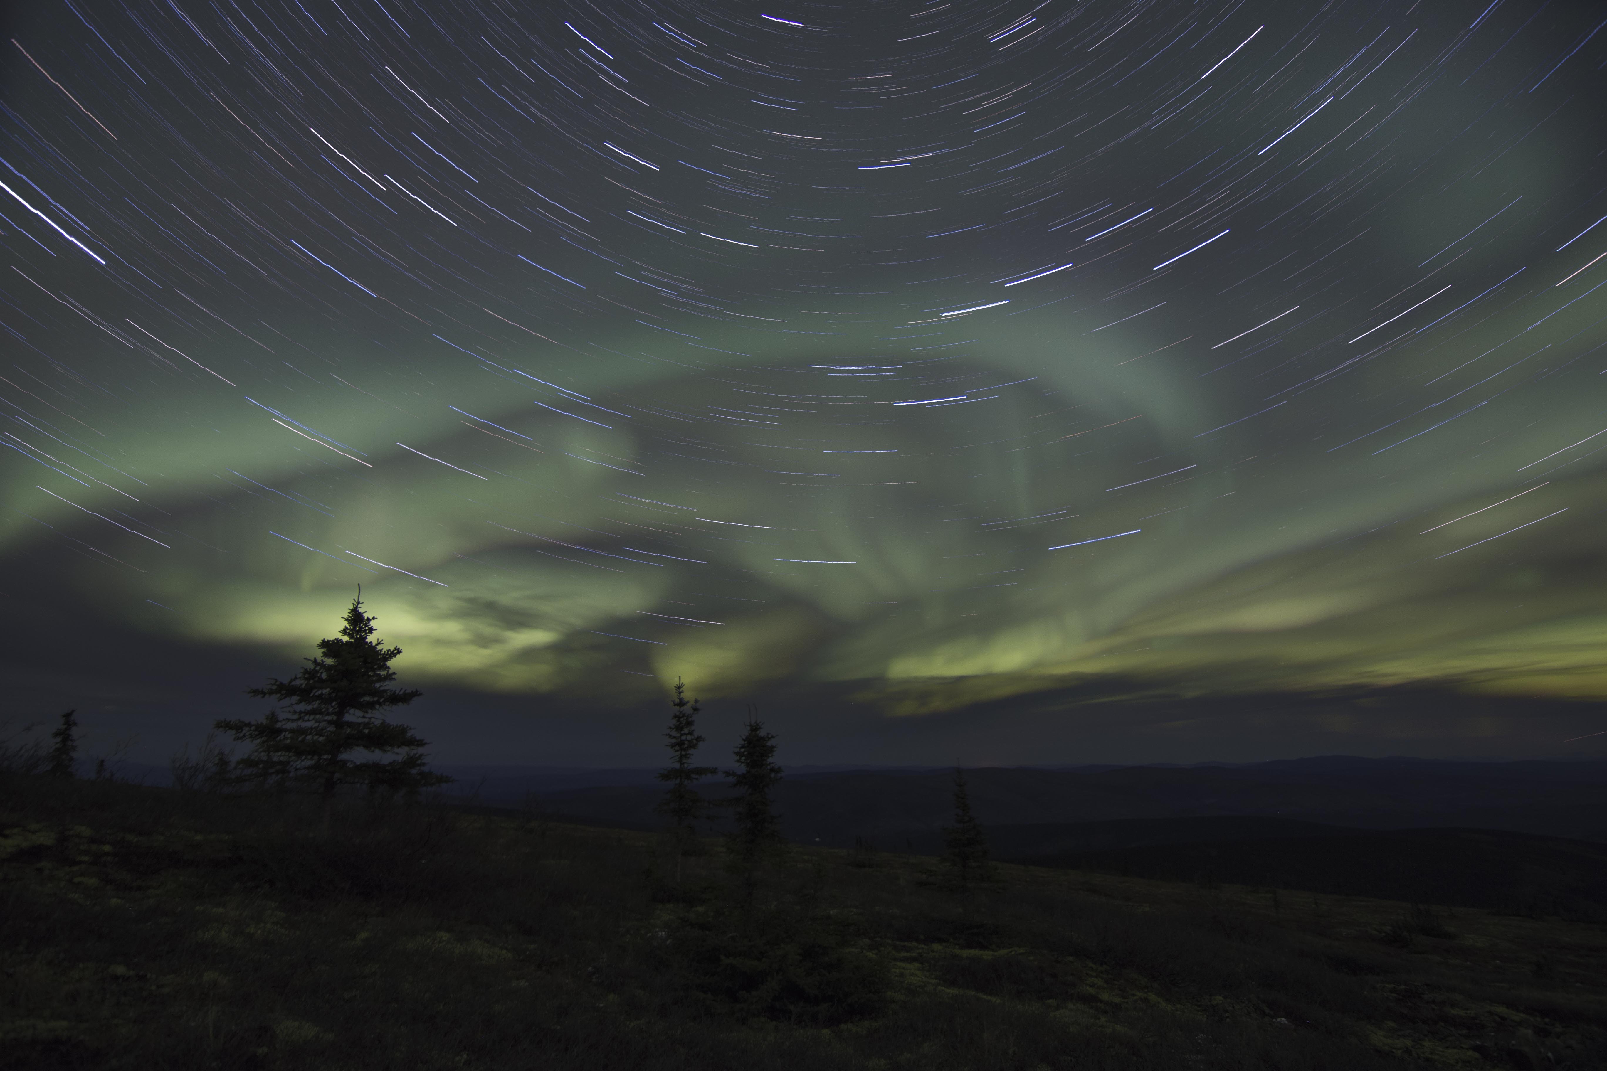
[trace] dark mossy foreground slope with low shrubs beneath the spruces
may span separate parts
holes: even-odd
[[[5,1068],[1607,1066],[1607,928],[0,779]]]

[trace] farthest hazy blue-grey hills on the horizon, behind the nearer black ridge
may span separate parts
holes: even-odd
[[[646,774],[646,771],[644,771]],[[1104,769],[969,769],[971,801],[988,827],[1281,817],[1363,829],[1464,827],[1607,838],[1607,759],[1456,763],[1319,756],[1253,764]],[[720,782],[705,782],[720,795]],[[951,817],[948,771],[821,771],[778,785],[783,832],[824,845],[855,838],[903,848]],[[527,793],[485,803],[519,803]],[[654,782],[529,795],[551,814],[652,827]]]

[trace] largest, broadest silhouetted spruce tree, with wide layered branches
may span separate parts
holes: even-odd
[[[270,679],[247,695],[286,703],[262,721],[219,721],[217,727],[249,742],[249,755],[235,763],[239,780],[305,785],[323,798],[323,821],[341,785],[366,785],[408,795],[452,780],[424,769],[424,740],[407,726],[381,716],[423,695],[418,689],[386,687],[395,681],[391,662],[400,647],[373,639],[374,618],[363,612],[362,593],[346,612],[339,639],[320,639],[317,658],[288,681]],[[354,753],[362,758],[354,758]],[[376,758],[399,755],[399,758]]]

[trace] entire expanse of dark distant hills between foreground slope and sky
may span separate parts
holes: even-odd
[[[437,769],[456,777],[448,795],[464,803],[662,825],[656,769]],[[117,768],[153,785],[167,774]],[[1607,922],[1607,759],[1329,755],[966,776],[995,859]],[[723,795],[718,777],[701,788]],[[950,769],[800,766],[778,785],[776,808],[794,841],[937,854],[951,792]]]

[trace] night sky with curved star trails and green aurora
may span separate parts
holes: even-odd
[[[362,584],[460,761],[1607,740],[1599,3],[22,6],[8,715]]]

